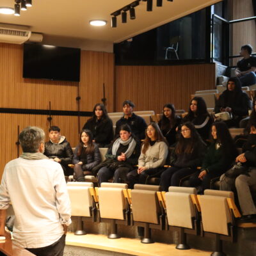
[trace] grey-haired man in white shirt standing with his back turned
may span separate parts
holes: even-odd
[[[44,131],[38,127],[20,132],[23,154],[4,168],[0,216],[3,218],[12,202],[15,242],[38,256],[62,256],[71,223],[70,200],[60,164],[43,154],[44,139]],[[1,228],[0,236],[4,234],[3,225]]]

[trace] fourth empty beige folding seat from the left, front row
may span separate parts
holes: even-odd
[[[198,203],[194,203],[195,188],[170,187],[165,193],[168,229],[179,231],[179,244],[176,248],[187,250],[186,234],[199,234]],[[182,212],[182,214],[180,214]]]

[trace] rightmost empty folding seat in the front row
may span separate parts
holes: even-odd
[[[234,193],[207,189],[205,195],[198,196],[202,211],[202,235],[214,237],[215,252],[225,255],[221,241],[234,242],[234,218],[241,217],[234,204]]]

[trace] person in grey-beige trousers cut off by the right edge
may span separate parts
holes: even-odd
[[[250,186],[256,184],[256,122],[250,123],[248,141],[243,145],[243,154],[236,157],[238,172],[228,170],[220,177],[220,190],[237,191],[242,220],[256,222],[256,207]],[[230,173],[230,171],[232,171]]]

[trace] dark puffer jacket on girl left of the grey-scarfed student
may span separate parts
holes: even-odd
[[[97,144],[93,143],[94,145],[94,152],[93,154],[86,154],[85,148],[83,147],[81,150],[80,156],[77,155],[77,151],[79,148],[79,145],[75,149],[74,153],[74,158],[73,158],[73,163],[77,164],[79,162],[82,162],[82,169],[83,170],[92,170],[93,167],[98,165],[101,161],[101,156],[100,156],[100,150]]]

